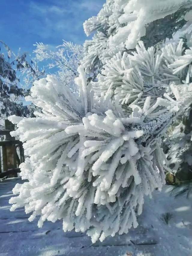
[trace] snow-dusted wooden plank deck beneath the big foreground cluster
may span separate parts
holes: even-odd
[[[85,233],[62,231],[62,221],[46,221],[41,229],[38,218],[29,222],[24,209],[10,212],[8,200],[13,196],[12,188],[19,178],[0,182],[0,255],[66,255],[66,256],[165,256],[157,235],[151,226],[130,230],[122,236],[109,237],[103,243],[91,243]],[[188,256],[187,254],[183,254]],[[174,254],[173,256],[181,256]]]

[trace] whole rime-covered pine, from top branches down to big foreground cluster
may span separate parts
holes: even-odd
[[[19,195],[10,199],[11,210],[25,206],[26,213],[32,212],[30,221],[40,216],[39,227],[46,219],[63,219],[64,231],[87,230],[92,242],[127,233],[138,225],[144,195],[164,183],[161,137],[191,103],[192,83],[180,80],[189,63],[173,74],[182,41],[159,51],[139,42],[137,52],[126,52],[145,34],[147,23],[192,1],[147,3],[110,0],[99,18],[85,23],[87,33],[100,31],[85,43],[88,54],[75,79],[78,97],[47,76],[34,83],[27,98],[41,113],[10,117],[18,127],[12,135],[20,136],[28,156],[21,176],[29,180],[13,189]],[[151,15],[142,22],[143,14]],[[98,82],[89,83],[85,71],[100,67]]]

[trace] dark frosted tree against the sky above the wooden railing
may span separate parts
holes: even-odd
[[[0,118],[16,114],[17,116],[30,116],[31,112],[23,105],[26,91],[19,87],[17,70],[24,67],[26,55],[14,56],[10,48],[1,42],[1,51],[4,47],[6,54],[0,53]],[[11,54],[13,58],[11,58]]]

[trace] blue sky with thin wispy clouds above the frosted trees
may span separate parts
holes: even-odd
[[[82,44],[82,23],[97,15],[105,0],[1,0],[0,40],[17,53],[32,53],[36,42]]]

